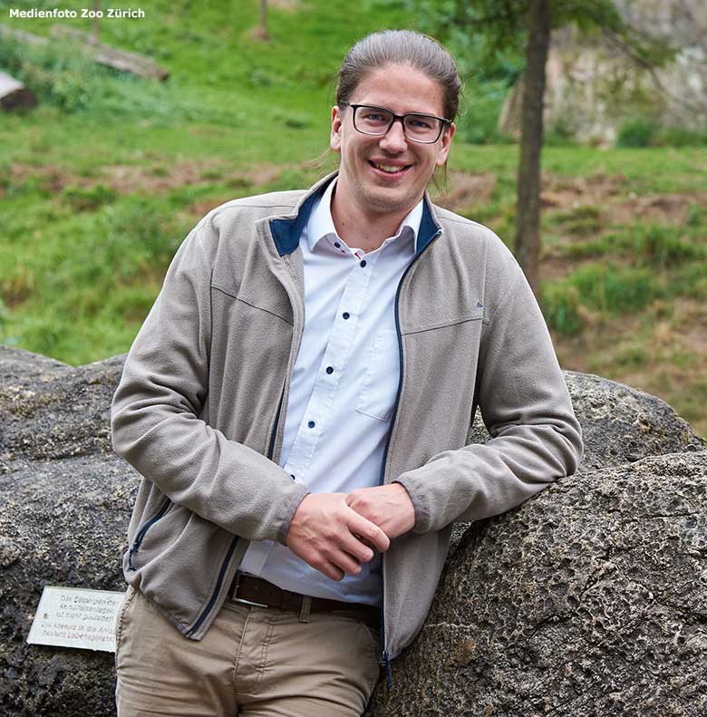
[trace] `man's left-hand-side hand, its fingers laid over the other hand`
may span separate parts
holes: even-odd
[[[332,580],[358,575],[373,550],[391,541],[375,523],[346,505],[345,493],[310,493],[299,504],[287,529],[287,547]]]

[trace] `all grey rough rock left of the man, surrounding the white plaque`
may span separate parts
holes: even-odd
[[[112,454],[122,357],[73,368],[0,346],[0,714],[115,713],[113,656],[25,643],[45,585],[123,590],[138,476]]]

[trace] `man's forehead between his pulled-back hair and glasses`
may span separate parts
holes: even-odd
[[[388,64],[364,74],[349,102],[386,107],[396,114],[444,113],[440,83],[407,64]]]

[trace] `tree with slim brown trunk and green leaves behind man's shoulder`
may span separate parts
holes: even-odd
[[[630,1],[630,0],[629,0]],[[545,65],[551,31],[576,24],[585,34],[610,34],[643,63],[663,63],[670,50],[625,23],[614,0],[410,0],[425,29],[449,42],[460,56],[473,53],[482,72],[499,57],[523,58],[518,206],[514,250],[536,296],[540,296],[540,159],[543,146]],[[469,69],[469,68],[468,68]],[[477,67],[478,71],[479,68]]]

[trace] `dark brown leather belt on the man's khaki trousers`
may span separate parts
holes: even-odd
[[[261,577],[236,573],[230,589],[230,599],[243,605],[255,607],[272,607],[285,612],[307,615],[309,613],[333,613],[345,610],[352,617],[357,617],[365,625],[380,627],[380,611],[377,607],[363,603],[344,603],[341,600],[330,600],[326,597],[311,597],[283,590]]]

